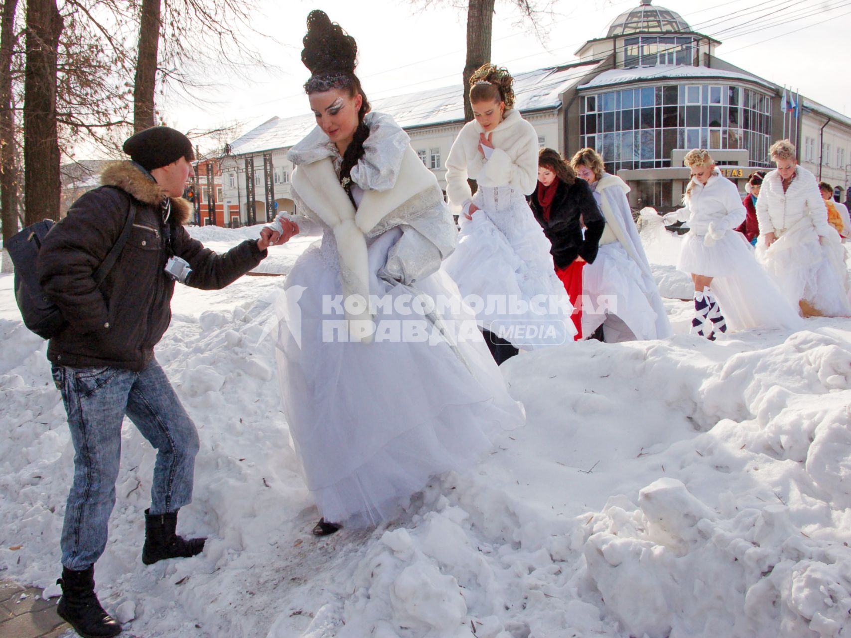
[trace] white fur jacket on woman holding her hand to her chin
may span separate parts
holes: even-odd
[[[454,214],[472,199],[467,178],[480,186],[511,186],[523,195],[531,195],[538,186],[538,133],[520,111],[505,111],[502,122],[491,131],[494,151],[488,160],[478,150],[482,133],[476,120],[467,122],[449,151],[446,194]]]

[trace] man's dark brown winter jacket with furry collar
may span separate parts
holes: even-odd
[[[221,255],[204,248],[184,227],[191,212],[184,199],[171,199],[163,224],[163,189],[132,162],[111,164],[101,183],[115,188],[89,191],[74,202],[39,252],[43,291],[70,324],[50,339],[48,359],[70,367],[138,371],[171,321],[174,280],[163,271],[169,256],[191,265],[188,285],[209,289],[224,288],[258,265],[266,251],[254,240]],[[97,288],[94,271],[121,234],[131,199],[136,218],[129,239]]]

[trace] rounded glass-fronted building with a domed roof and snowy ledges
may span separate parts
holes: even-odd
[[[565,95],[568,155],[596,148],[636,207],[676,208],[688,184],[683,157],[696,147],[744,189],[751,171],[771,167],[780,100],[774,84],[719,60],[719,44],[652,0],[617,16],[577,51],[591,66]]]

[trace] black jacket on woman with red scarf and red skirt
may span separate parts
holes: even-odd
[[[544,219],[544,209],[538,202],[538,191],[529,197],[535,219],[543,227],[544,234],[552,243],[550,253],[557,268],[567,268],[579,255],[589,264],[597,259],[600,237],[606,222],[591,187],[584,179],[576,179],[572,185],[559,181],[556,197],[552,199],[550,219]],[[585,239],[582,226],[585,225]]]

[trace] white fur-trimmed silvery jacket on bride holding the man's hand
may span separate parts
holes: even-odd
[[[336,146],[321,128],[294,145],[287,157],[297,167],[293,199],[298,212],[334,233],[344,294],[368,299],[368,238],[402,229],[379,275],[408,285],[440,268],[454,250],[457,231],[437,179],[408,144],[408,134],[381,113],[368,113],[365,122],[366,152],[351,171],[352,182],[363,189],[357,208],[340,185]],[[368,310],[347,316],[374,318]]]

